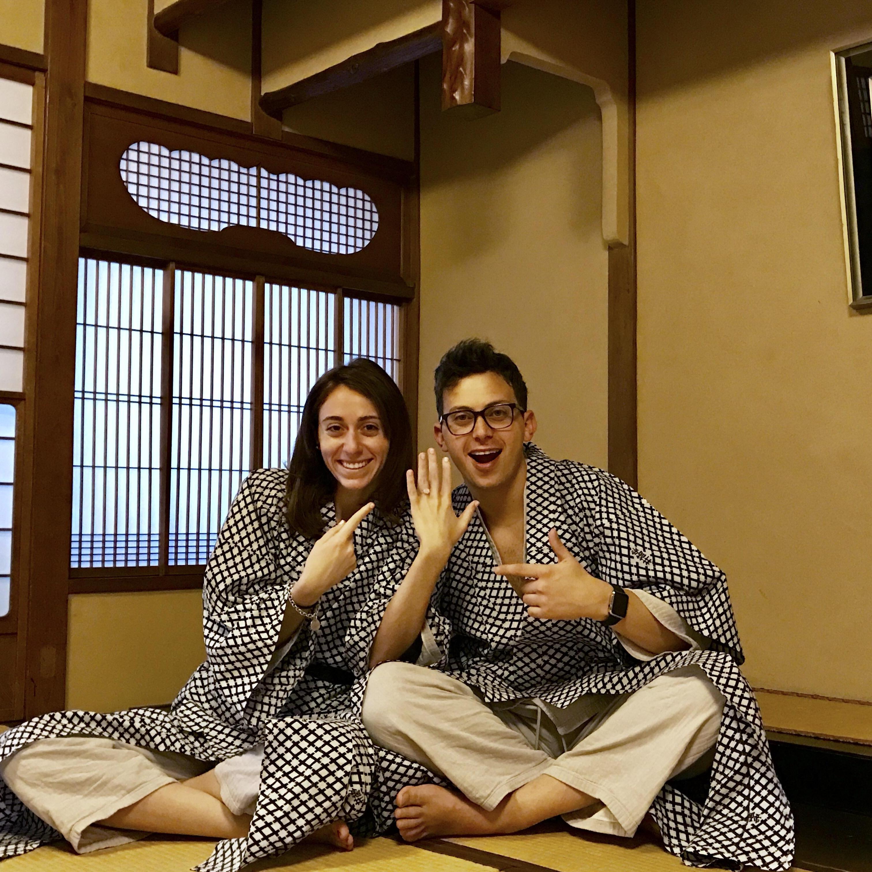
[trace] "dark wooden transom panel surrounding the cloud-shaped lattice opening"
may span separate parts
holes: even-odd
[[[133,201],[119,173],[121,155],[142,140],[212,159],[227,158],[242,167],[256,165],[270,173],[357,187],[378,207],[378,231],[364,249],[340,255],[303,249],[262,228],[234,226],[203,232],[159,221]],[[399,160],[385,163],[357,155],[319,154],[250,133],[209,128],[200,119],[183,121],[87,99],[81,245],[106,254],[191,262],[222,273],[256,271],[285,282],[348,287],[407,300],[415,291],[404,258],[407,190],[417,183],[412,166]]]

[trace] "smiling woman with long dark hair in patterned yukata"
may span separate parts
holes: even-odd
[[[377,816],[355,832],[386,828],[400,780],[426,780],[375,751],[358,711],[386,604],[421,571],[411,466],[385,370],[357,358],[318,378],[290,469],[251,473],[229,508],[203,585],[207,660],[171,710],[59,712],[3,734],[0,856],[57,832],[81,853],[145,830],[239,840],[210,867],[235,872],[309,836],[351,848],[371,791]],[[22,803],[32,826],[16,840]]]

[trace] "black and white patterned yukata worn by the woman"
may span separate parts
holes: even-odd
[[[37,739],[96,736],[220,761],[265,746],[247,839],[221,841],[198,869],[234,872],[277,855],[337,819],[371,834],[392,824],[400,787],[433,775],[372,745],[359,719],[368,655],[384,596],[417,553],[409,514],[390,524],[374,510],[355,531],[357,569],[322,596],[320,626],[305,625],[272,671],[287,592],[313,542],[283,517],[287,472],[242,483],[208,562],[203,586],[207,659],[169,712],[53,712],[0,735],[0,760]],[[334,519],[330,505],[325,521]],[[0,859],[60,835],[0,780]]]

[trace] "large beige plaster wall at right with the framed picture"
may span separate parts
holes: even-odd
[[[637,8],[640,489],[726,569],[753,685],[872,700],[872,317],[829,56],[872,7]]]

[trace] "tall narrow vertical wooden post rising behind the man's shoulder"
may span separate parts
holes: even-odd
[[[609,248],[609,471],[638,487],[636,294],[636,3],[627,3],[630,244]]]

